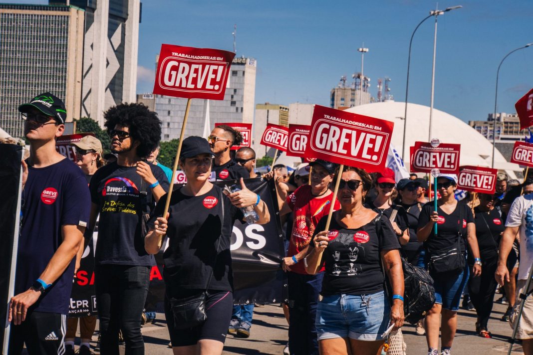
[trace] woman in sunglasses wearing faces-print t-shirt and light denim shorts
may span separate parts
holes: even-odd
[[[333,213],[329,230],[324,230],[327,216],[319,221],[310,244],[306,271],[326,268],[316,319],[322,354],[379,354],[386,335],[403,325],[400,244],[390,220],[364,206],[371,187],[365,170],[344,167],[337,195],[341,209]]]

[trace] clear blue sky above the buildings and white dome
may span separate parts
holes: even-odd
[[[28,2],[28,1],[24,1]],[[31,1],[30,1],[31,2]],[[35,1],[34,1],[35,2]],[[38,1],[37,1],[38,2]],[[440,1],[435,75],[436,109],[465,121],[494,110],[496,70],[505,54],[533,42],[530,1]],[[144,0],[139,30],[138,93],[151,92],[161,43],[232,50],[257,60],[256,103],[329,105],[342,75],[360,71],[376,96],[378,78],[390,77],[394,100],[405,100],[409,38],[434,9],[428,1]],[[411,52],[409,102],[430,104],[433,19],[416,32]],[[509,56],[500,70],[498,111],[533,87],[533,46]]]

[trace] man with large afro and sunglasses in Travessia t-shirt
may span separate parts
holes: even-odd
[[[90,228],[98,241],[94,282],[100,318],[100,351],[118,354],[122,331],[126,353],[144,354],[141,313],[154,258],[144,250],[144,216],[168,190],[168,179],[144,159],[157,147],[161,121],[143,104],[120,104],[104,113],[117,161],[95,172]]]

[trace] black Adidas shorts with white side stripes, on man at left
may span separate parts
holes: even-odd
[[[8,354],[20,354],[25,343],[29,355],[64,354],[66,320],[61,313],[28,312],[22,324],[11,326]]]

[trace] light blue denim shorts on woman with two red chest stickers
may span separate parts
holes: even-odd
[[[383,340],[389,326],[391,307],[383,291],[367,295],[336,294],[318,303],[318,340],[350,338]]]

